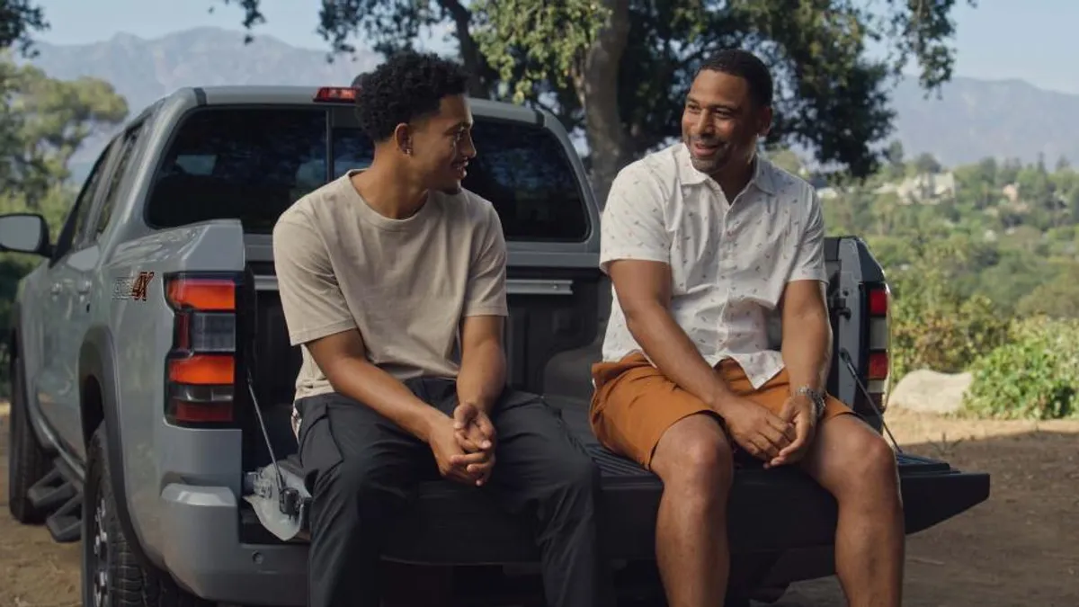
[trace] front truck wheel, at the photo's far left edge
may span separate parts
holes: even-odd
[[[8,428],[8,508],[15,521],[38,525],[44,522],[45,513],[30,503],[29,490],[49,472],[50,461],[33,428],[30,428],[23,359],[17,352],[12,352]]]

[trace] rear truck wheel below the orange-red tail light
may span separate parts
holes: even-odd
[[[210,607],[132,552],[117,518],[105,426],[86,451],[82,515],[82,594],[88,607]]]

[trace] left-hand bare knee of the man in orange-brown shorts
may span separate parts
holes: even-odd
[[[664,433],[656,445],[652,469],[665,485],[718,496],[730,487],[734,455],[723,429],[711,415],[692,415]]]

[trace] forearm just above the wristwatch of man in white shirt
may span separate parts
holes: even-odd
[[[819,312],[783,321],[782,356],[791,390],[823,390],[832,364],[832,325]]]

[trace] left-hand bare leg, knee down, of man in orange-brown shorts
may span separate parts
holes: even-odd
[[[714,418],[686,417],[664,433],[652,469],[664,482],[656,561],[669,607],[718,607],[726,594],[730,443]]]

